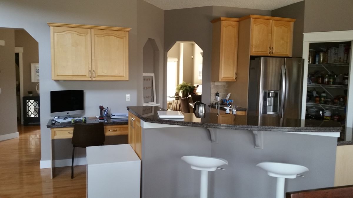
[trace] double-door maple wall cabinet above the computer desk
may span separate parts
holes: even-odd
[[[53,80],[128,80],[130,28],[48,25]]]

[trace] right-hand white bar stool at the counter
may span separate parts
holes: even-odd
[[[284,198],[285,178],[294,179],[297,177],[297,174],[309,171],[305,166],[290,163],[261,162],[256,166],[267,171],[267,174],[271,177],[277,178],[276,198]],[[302,175],[298,176],[304,177]]]

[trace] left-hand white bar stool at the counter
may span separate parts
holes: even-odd
[[[215,171],[218,166],[227,165],[228,161],[217,157],[187,155],[181,157],[192,169],[201,171],[200,198],[207,198],[208,171]],[[218,168],[222,169],[223,168]]]

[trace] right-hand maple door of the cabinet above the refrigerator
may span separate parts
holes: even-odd
[[[272,21],[271,56],[292,56],[293,22]]]

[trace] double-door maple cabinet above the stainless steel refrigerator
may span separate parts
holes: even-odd
[[[295,19],[250,15],[239,20],[250,24],[250,55],[292,56]]]

